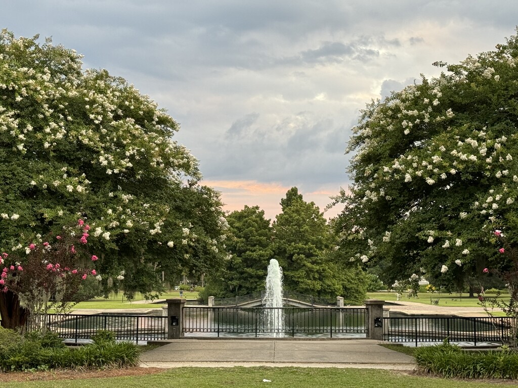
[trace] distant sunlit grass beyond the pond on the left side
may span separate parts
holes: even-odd
[[[180,297],[179,291],[164,292],[159,296],[160,299],[171,299]],[[185,299],[197,299],[197,292],[183,292]],[[91,308],[91,309],[124,309],[124,308],[159,308],[161,304],[148,304],[148,303],[133,303],[136,301],[143,301],[145,298],[142,294],[136,293],[133,301],[128,301],[121,293],[111,293],[108,299],[104,297],[98,297],[90,301],[80,302],[74,306],[74,309],[78,308]],[[165,303],[164,303],[165,304]]]

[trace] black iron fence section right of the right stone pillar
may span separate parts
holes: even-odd
[[[441,317],[409,316],[383,318],[383,339],[413,343],[451,342],[504,344],[511,339],[513,319],[510,317]]]

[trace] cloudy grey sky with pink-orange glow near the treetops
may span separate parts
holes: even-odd
[[[515,0],[0,0],[1,28],[150,95],[225,210],[269,219],[293,186],[323,211],[350,184],[360,110],[504,43],[516,15]]]

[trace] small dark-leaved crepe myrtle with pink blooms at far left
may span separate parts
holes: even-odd
[[[51,306],[66,306],[88,276],[102,279],[93,268],[98,258],[87,249],[89,230],[90,226],[79,219],[76,226],[64,227],[58,235],[38,234],[25,246],[19,244],[11,253],[2,253],[2,326],[15,329],[22,319],[28,331],[45,331]],[[21,309],[5,303],[15,296]]]

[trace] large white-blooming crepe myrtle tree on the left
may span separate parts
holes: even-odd
[[[98,237],[98,271],[124,271],[119,286],[130,293],[160,290],[163,272],[217,266],[219,193],[200,184],[198,161],[172,140],[177,130],[124,79],[83,70],[79,54],[50,39],[2,30],[0,246],[82,218]]]

